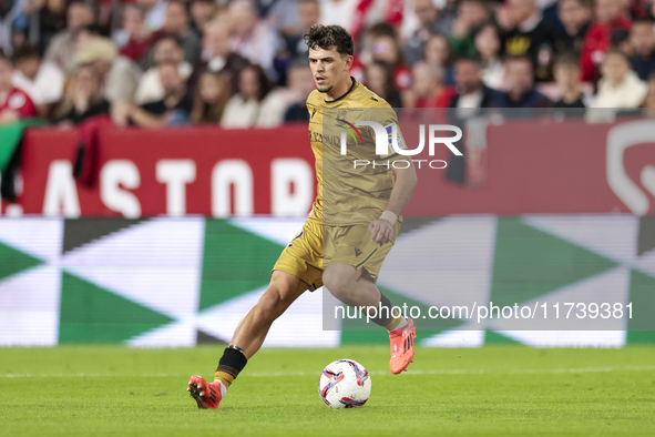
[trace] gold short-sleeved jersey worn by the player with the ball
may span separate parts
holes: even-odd
[[[377,122],[386,128],[390,138],[391,125],[398,125],[396,112],[354,78],[350,90],[330,102],[314,90],[307,98],[307,110],[318,183],[309,220],[326,225],[351,225],[369,224],[379,218],[393,189],[393,162],[405,156],[393,153],[389,146],[385,154],[376,155],[373,129],[356,126],[356,122]],[[341,154],[342,136],[346,139],[345,155]],[[399,132],[398,139],[399,146],[405,149]]]

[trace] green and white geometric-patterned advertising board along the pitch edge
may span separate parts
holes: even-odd
[[[254,217],[0,220],[0,346],[228,342],[303,221]],[[655,217],[449,216],[407,220],[378,285],[393,303],[494,305],[612,299],[655,314]],[[323,289],[275,322],[265,347],[387,343],[323,325]],[[423,314],[426,314],[423,313]],[[453,322],[453,321],[451,321]],[[421,323],[419,321],[419,328]],[[627,318],[606,331],[513,331],[502,319],[419,333],[423,346],[621,347],[655,343]]]

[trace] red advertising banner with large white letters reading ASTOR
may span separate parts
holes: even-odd
[[[413,149],[418,133],[403,135]],[[655,214],[655,121],[508,121],[485,126],[479,136],[464,129],[464,142],[474,144],[464,149],[467,172],[478,182],[452,182],[448,170],[423,163],[406,216]],[[0,212],[304,216],[316,195],[305,125],[245,131],[106,128],[98,136],[98,175],[91,187],[72,176],[76,144],[75,131],[29,131],[22,193],[18,204],[3,202]],[[453,155],[441,144],[426,157],[450,166]]]

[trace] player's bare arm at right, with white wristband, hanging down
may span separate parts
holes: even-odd
[[[406,161],[409,162],[407,169],[393,167],[396,184],[393,185],[393,190],[391,190],[391,196],[387,203],[387,209],[380,215],[380,218],[376,220],[368,226],[368,230],[371,233],[371,241],[378,243],[380,246],[391,241],[391,236],[393,235],[393,224],[409,203],[409,200],[417,187],[417,172],[413,162],[409,156],[407,156]]]

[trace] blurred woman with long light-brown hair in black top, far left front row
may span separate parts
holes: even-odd
[[[63,102],[54,113],[55,123],[72,126],[84,120],[109,114],[110,104],[102,95],[100,78],[91,65],[83,65],[74,73]]]

